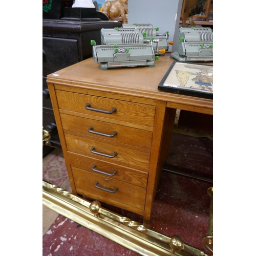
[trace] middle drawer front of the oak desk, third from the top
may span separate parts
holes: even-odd
[[[97,157],[111,163],[126,163],[136,169],[148,169],[150,164],[150,153],[145,153],[131,148],[111,145],[93,139],[85,139],[70,134],[65,134],[68,148],[88,153],[91,157]],[[102,155],[103,154],[103,155]]]

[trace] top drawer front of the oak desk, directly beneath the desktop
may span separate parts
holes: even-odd
[[[152,105],[59,90],[56,90],[56,95],[60,110],[74,111],[150,127],[154,126],[156,107]]]

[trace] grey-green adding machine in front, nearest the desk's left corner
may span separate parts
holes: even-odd
[[[102,39],[103,38],[103,39]],[[99,63],[101,70],[119,67],[148,66],[155,67],[153,42],[157,39],[144,38],[142,33],[102,33],[101,44],[93,46],[93,59]]]

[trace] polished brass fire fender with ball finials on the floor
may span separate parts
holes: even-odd
[[[212,188],[210,188],[212,196]],[[208,189],[209,190],[209,189]],[[166,237],[138,222],[122,217],[101,207],[98,201],[89,202],[56,185],[42,181],[42,203],[58,214],[89,228],[130,250],[144,256],[208,256],[203,250],[184,244],[182,239],[174,235]],[[212,198],[209,216],[210,238],[203,238],[204,246],[212,251]],[[209,235],[209,232],[208,232]],[[210,242],[209,242],[210,241]],[[205,245],[206,244],[206,245]]]

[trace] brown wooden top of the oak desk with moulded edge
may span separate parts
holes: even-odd
[[[101,70],[100,65],[93,58],[89,58],[48,75],[47,82],[162,100],[166,101],[170,108],[186,109],[182,106],[195,106],[202,110],[206,109],[207,114],[212,114],[213,100],[211,99],[158,90],[159,83],[174,61],[169,56],[170,53],[160,56],[153,68],[144,66],[108,70]],[[209,62],[206,63],[209,64]],[[196,112],[204,113],[204,110]]]

